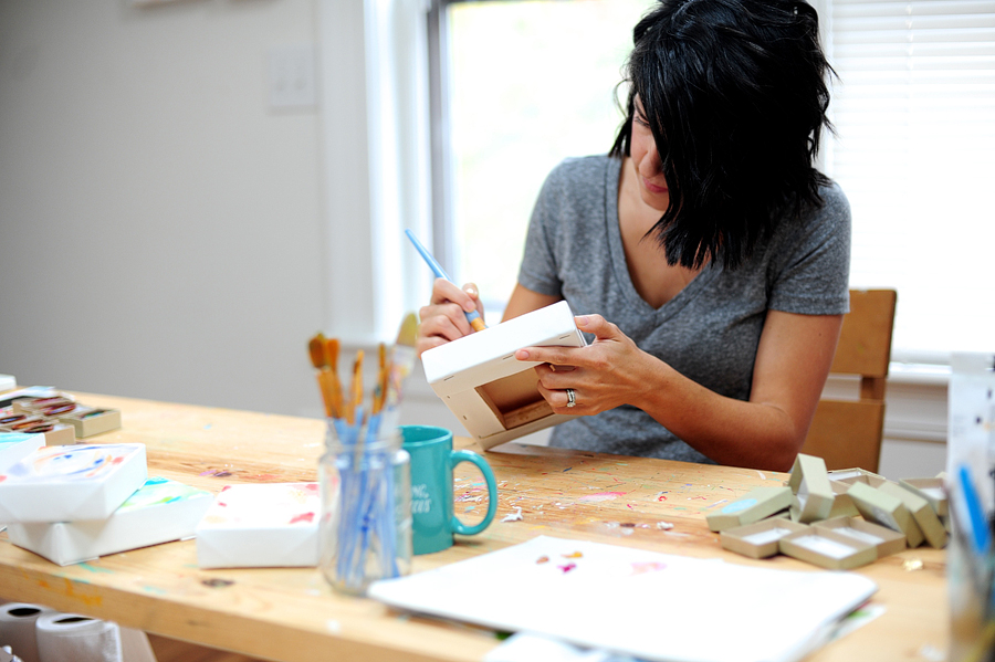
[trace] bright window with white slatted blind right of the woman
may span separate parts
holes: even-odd
[[[898,290],[899,360],[991,351],[995,1],[828,6],[826,168],[852,208],[851,286]]]

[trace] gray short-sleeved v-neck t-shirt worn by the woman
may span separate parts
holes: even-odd
[[[653,308],[636,291],[626,263],[618,225],[620,171],[620,159],[590,156],[566,159],[549,174],[528,227],[521,285],[562,296],[576,315],[603,315],[681,375],[737,400],[750,399],[768,309],[804,315],[849,309],[850,208],[835,183],[821,189],[820,209],[778,223],[739,269],[712,263]],[[561,423],[549,443],[713,463],[628,404]]]

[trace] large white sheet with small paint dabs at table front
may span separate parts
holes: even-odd
[[[775,570],[540,536],[378,581],[368,595],[645,660],[760,662],[800,660],[876,590],[852,572]]]

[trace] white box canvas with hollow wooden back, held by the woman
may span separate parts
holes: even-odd
[[[583,347],[565,302],[433,347],[421,355],[436,395],[484,449],[574,417],[553,413],[537,390],[537,361],[520,361],[523,347]]]

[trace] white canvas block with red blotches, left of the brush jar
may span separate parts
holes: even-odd
[[[320,513],[317,483],[227,485],[197,525],[197,565],[317,566]]]

